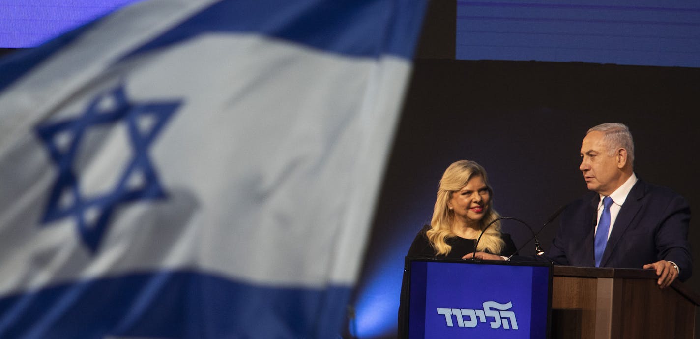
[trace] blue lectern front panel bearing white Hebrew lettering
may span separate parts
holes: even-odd
[[[545,339],[552,264],[406,258],[409,339]]]

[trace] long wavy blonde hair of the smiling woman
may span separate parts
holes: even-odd
[[[451,226],[455,221],[454,211],[449,209],[447,202],[452,198],[452,193],[460,191],[464,186],[467,186],[467,182],[472,177],[478,176],[484,178],[484,183],[489,189],[490,198],[484,218],[479,223],[479,229],[484,230],[486,225],[500,217],[498,212],[493,209],[493,191],[491,190],[491,185],[489,185],[484,167],[469,160],[453,162],[447,167],[447,170],[442,174],[442,179],[440,179],[440,188],[437,190],[437,200],[435,200],[435,208],[433,209],[433,220],[430,221],[432,228],[426,233],[437,255],[449,254],[452,247],[447,244],[446,240],[449,237],[457,236],[451,230]],[[477,251],[500,254],[503,247],[505,247],[505,242],[500,238],[500,221],[496,221],[482,235],[477,245]]]

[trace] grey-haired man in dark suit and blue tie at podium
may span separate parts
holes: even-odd
[[[690,207],[670,189],[638,179],[633,161],[625,125],[588,131],[579,170],[592,192],[564,210],[547,256],[559,265],[654,269],[664,288],[692,273]]]

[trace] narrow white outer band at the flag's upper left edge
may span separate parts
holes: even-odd
[[[48,112],[81,92],[115,60],[216,0],[151,0],[95,24],[20,81],[0,92],[0,156]],[[167,18],[167,20],[163,20]],[[125,22],[132,25],[124,25]],[[109,41],[109,43],[105,43]],[[97,48],[99,46],[99,48]]]

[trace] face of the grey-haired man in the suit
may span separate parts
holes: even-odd
[[[583,172],[589,190],[608,196],[624,183],[620,182],[622,172],[616,153],[610,156],[610,150],[603,144],[603,132],[590,132],[583,138],[578,169]]]

